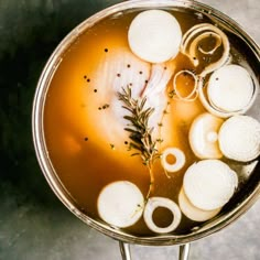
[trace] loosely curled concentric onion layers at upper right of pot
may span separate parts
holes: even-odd
[[[199,42],[209,36],[216,39],[216,43],[212,50],[205,51],[202,48],[202,46],[199,46]],[[191,59],[194,66],[198,66],[199,59],[197,57],[197,52],[206,55],[213,55],[221,45],[224,48],[221,57],[217,62],[212,63],[205,67],[201,74],[201,76],[205,77],[207,74],[226,64],[227,59],[229,58],[230,45],[227,35],[213,24],[197,24],[191,28],[184,34],[181,44],[181,52]]]

